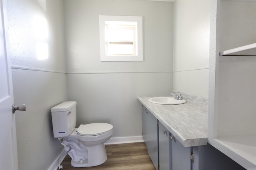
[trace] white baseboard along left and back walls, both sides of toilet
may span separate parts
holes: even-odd
[[[112,138],[108,139],[108,141],[105,142],[105,145],[121,144],[121,143],[137,143],[137,142],[144,142],[143,137],[142,136],[112,137]],[[54,160],[54,162],[52,163],[50,168],[48,168],[48,170],[56,170],[57,168],[59,168],[59,162],[58,162],[59,157],[60,157],[60,155],[58,155],[58,157]],[[65,158],[65,156],[63,156],[62,160],[64,158]],[[62,160],[61,160],[61,162],[62,162]]]

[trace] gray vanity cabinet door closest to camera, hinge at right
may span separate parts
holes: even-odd
[[[184,147],[174,136],[171,141],[172,170],[191,170],[191,147]]]

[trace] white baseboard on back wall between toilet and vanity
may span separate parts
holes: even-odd
[[[121,143],[137,143],[144,142],[142,136],[132,136],[132,137],[112,137],[105,142],[105,145],[121,144]]]

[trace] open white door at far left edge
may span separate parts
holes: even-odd
[[[18,170],[12,72],[4,25],[6,4],[3,0],[0,0],[0,10],[0,170]]]

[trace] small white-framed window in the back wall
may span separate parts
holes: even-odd
[[[142,17],[100,16],[101,61],[142,61]]]

